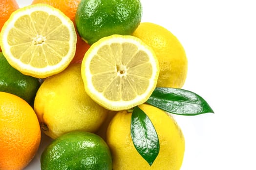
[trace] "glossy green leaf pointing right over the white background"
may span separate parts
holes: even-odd
[[[157,87],[147,103],[178,115],[214,113],[202,97],[191,91],[178,88]]]

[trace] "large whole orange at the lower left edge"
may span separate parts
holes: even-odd
[[[18,96],[0,92],[0,170],[22,170],[35,156],[41,140],[32,107]]]

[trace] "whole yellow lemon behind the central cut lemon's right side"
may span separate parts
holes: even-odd
[[[181,88],[186,80],[188,60],[183,46],[169,30],[143,22],[133,33],[153,49],[159,62],[157,87]]]

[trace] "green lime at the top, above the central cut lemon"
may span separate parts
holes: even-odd
[[[140,0],[81,0],[75,22],[88,44],[112,34],[130,35],[140,24]]]

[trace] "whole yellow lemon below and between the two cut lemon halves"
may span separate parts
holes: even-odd
[[[107,110],[85,93],[81,64],[47,78],[34,106],[43,132],[51,138],[74,130],[95,132],[107,115]]]

